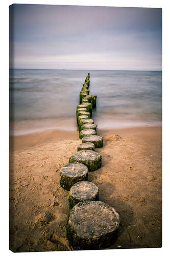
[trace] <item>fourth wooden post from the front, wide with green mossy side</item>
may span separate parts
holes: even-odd
[[[81,150],[69,158],[69,163],[74,162],[85,164],[89,172],[93,172],[102,166],[102,156],[100,153],[92,150]]]

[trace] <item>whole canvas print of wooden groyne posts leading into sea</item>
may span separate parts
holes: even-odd
[[[161,247],[162,10],[9,10],[9,249]]]

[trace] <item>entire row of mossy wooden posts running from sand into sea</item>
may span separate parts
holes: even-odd
[[[76,109],[79,138],[78,153],[60,171],[60,185],[69,190],[70,215],[66,224],[70,246],[76,250],[103,249],[112,244],[119,226],[119,215],[114,208],[99,200],[99,188],[88,181],[88,173],[102,166],[102,156],[95,148],[103,147],[103,138],[96,135],[92,109],[96,95],[89,95],[88,73],[80,92]]]

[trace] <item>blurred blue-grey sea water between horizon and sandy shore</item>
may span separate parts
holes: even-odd
[[[92,118],[99,129],[162,122],[161,71],[10,70],[13,135],[76,131],[76,106],[87,73],[97,95]]]

